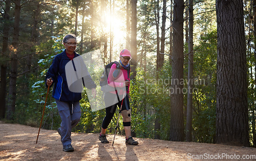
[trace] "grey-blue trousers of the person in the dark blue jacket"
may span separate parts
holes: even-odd
[[[79,101],[70,103],[55,100],[61,118],[60,134],[62,145],[66,147],[71,144],[71,130],[80,121],[81,109]]]

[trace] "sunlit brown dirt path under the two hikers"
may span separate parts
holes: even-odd
[[[112,146],[114,135],[107,136],[110,144],[101,144],[98,133],[72,133],[75,151],[64,152],[56,130],[41,129],[36,144],[37,133],[35,127],[0,121],[0,160],[256,160],[256,148],[141,138],[131,146],[122,135]]]

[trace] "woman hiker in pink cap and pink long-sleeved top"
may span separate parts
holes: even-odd
[[[117,105],[121,107],[121,114],[123,117],[123,126],[125,131],[125,144],[138,145],[132,135],[131,135],[131,108],[130,108],[130,64],[131,59],[130,51],[124,49],[120,53],[119,63],[113,63],[110,68],[108,76],[108,85],[112,87],[112,91],[108,91],[104,94],[104,102],[106,105],[105,111],[106,115],[103,119],[101,125],[101,132],[99,134],[99,140],[101,143],[109,143],[106,139],[106,128],[108,128],[114,113],[116,111]],[[120,67],[117,67],[120,65]],[[113,88],[114,87],[114,88]],[[115,90],[116,89],[116,90]],[[126,89],[126,90],[125,90]],[[118,93],[118,94],[117,94]],[[126,94],[126,95],[125,95]],[[117,98],[118,96],[118,98]],[[118,101],[115,101],[117,100]],[[123,99],[123,103],[122,103]],[[116,103],[117,102],[117,103]],[[122,105],[121,105],[122,104]]]

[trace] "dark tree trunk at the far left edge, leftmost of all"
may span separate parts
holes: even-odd
[[[3,30],[3,47],[2,53],[3,56],[2,60],[5,60],[7,57],[8,52],[8,37],[9,37],[9,30],[10,30],[10,1],[5,1],[5,13],[4,13],[4,30]],[[1,87],[0,87],[0,119],[5,118],[5,111],[6,111],[6,83],[7,83],[7,63],[3,62],[1,64]]]

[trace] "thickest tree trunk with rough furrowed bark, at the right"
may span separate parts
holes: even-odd
[[[216,142],[249,146],[243,1],[216,0]]]

